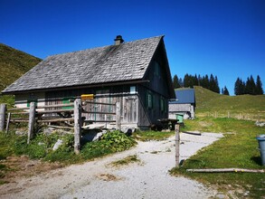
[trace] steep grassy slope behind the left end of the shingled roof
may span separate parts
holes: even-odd
[[[42,60],[0,43],[0,91]]]

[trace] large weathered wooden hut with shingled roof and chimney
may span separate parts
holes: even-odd
[[[121,126],[147,128],[168,117],[168,100],[175,98],[164,36],[52,55],[2,91],[14,94],[15,106],[69,103],[82,94],[94,101],[121,104]],[[65,108],[67,109],[67,107]],[[115,111],[110,105],[88,104],[87,112]],[[86,113],[87,119],[106,116]],[[107,116],[107,120],[115,116]]]

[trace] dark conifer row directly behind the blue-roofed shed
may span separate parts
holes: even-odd
[[[213,76],[213,74],[211,74],[210,77],[207,74],[203,76],[201,75],[197,76],[196,74],[195,75],[185,74],[184,79],[178,78],[177,75],[174,75],[172,81],[175,89],[181,87],[194,88],[194,86],[202,86],[205,89],[220,93],[218,78],[217,76]],[[226,87],[222,90],[226,90],[226,92],[228,92]]]

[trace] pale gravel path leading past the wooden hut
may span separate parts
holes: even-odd
[[[222,137],[181,134],[181,159]],[[168,174],[175,166],[175,137],[139,142],[137,147],[83,165],[68,166],[47,174],[0,186],[0,198],[209,198],[216,194],[204,185]],[[110,163],[137,155],[141,163],[115,167]],[[12,193],[12,194],[11,194]]]

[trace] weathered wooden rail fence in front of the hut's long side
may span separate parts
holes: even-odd
[[[82,106],[87,103],[108,105],[116,107],[116,112],[102,112],[102,111],[87,111],[82,108]],[[63,108],[68,109],[63,109]],[[73,109],[69,109],[73,107]],[[105,120],[87,120],[81,117],[82,113],[89,114],[104,114]],[[108,120],[107,115],[115,115],[116,120]],[[95,101],[82,101],[76,99],[73,103],[68,104],[56,104],[56,105],[46,105],[46,106],[36,106],[34,102],[30,103],[29,108],[14,108],[6,109],[5,104],[0,105],[0,131],[8,132],[10,122],[26,122],[28,123],[28,140],[33,138],[34,124],[37,123],[58,123],[63,122],[64,126],[51,126],[55,128],[72,128],[74,131],[74,152],[76,154],[80,153],[80,131],[84,122],[116,122],[116,128],[121,129],[121,119],[120,119],[120,103],[116,104],[95,102]],[[73,124],[71,124],[73,123]],[[65,125],[67,127],[65,127]]]

